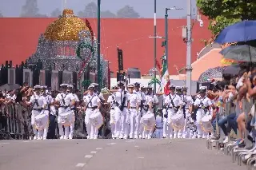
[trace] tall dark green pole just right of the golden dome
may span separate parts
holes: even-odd
[[[99,89],[102,88],[102,82],[101,82],[101,0],[98,0],[98,26],[97,26],[97,80],[98,80],[98,87]]]

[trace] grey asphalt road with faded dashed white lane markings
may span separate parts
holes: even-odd
[[[206,140],[1,140],[0,170],[237,170]]]

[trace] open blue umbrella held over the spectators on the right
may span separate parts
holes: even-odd
[[[256,40],[256,21],[243,21],[227,26],[218,34],[215,42],[225,44],[230,42],[248,42]]]

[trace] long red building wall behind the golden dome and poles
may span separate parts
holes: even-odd
[[[56,18],[0,18],[0,63],[13,61],[21,64],[30,57],[38,45],[39,35]],[[194,22],[192,30],[192,62],[197,53],[204,47],[202,40],[209,39],[211,34],[207,29],[208,21],[200,27]],[[95,34],[97,34],[97,19],[89,19]],[[182,40],[182,26],[186,19],[169,20],[169,68],[170,74],[177,74],[174,65],[182,68],[186,65],[186,43]],[[164,36],[164,19],[157,20],[158,36]],[[154,66],[154,19],[102,19],[101,53],[110,61],[110,69],[118,69],[117,46],[123,50],[125,69],[138,67],[143,73]],[[158,61],[162,57],[163,39],[157,39]]]

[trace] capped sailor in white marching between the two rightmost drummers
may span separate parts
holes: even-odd
[[[189,125],[190,125],[190,112],[191,112],[191,105],[193,105],[194,101],[190,95],[187,95],[187,87],[182,86],[182,109],[184,113],[184,118],[185,118],[185,126],[183,128],[183,138],[188,138],[189,136]]]

